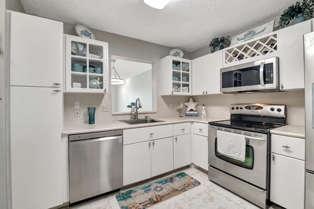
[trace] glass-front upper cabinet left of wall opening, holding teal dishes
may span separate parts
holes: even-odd
[[[64,92],[106,93],[108,43],[65,35]]]

